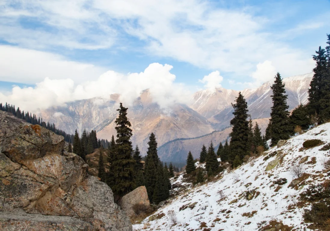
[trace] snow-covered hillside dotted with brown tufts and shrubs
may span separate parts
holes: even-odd
[[[324,143],[303,149],[304,141],[312,139]],[[330,123],[297,135],[284,146],[272,148],[236,170],[225,170],[214,182],[187,186],[154,213],[158,215],[156,219],[147,217],[133,227],[135,230],[247,231],[275,230],[270,228],[276,225],[276,230],[310,230],[302,217],[302,207],[309,206],[298,206],[297,202],[308,184],[329,179],[323,164],[325,159],[330,159],[329,150],[319,150],[329,141]],[[297,180],[290,167],[299,162],[305,173]],[[173,181],[181,182],[182,176]]]

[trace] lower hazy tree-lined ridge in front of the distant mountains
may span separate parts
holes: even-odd
[[[253,126],[255,122],[258,122],[261,132],[264,133],[268,125],[269,118],[254,119],[252,122]],[[203,144],[206,147],[209,147],[211,141],[214,144],[215,150],[217,150],[220,142],[224,144],[226,139],[229,141],[230,132],[231,128],[226,128],[222,131],[215,131],[202,137],[176,140],[172,142],[170,141],[158,148],[158,156],[165,162],[172,161],[185,163],[189,151],[191,151],[194,158],[199,158]]]

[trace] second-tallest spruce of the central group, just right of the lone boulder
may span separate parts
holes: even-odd
[[[145,183],[149,200],[153,200],[153,193],[156,185],[157,166],[159,162],[157,154],[157,142],[153,133],[150,134],[148,151],[145,161]]]

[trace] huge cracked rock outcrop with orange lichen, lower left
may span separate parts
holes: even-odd
[[[111,188],[63,147],[62,136],[0,111],[0,212],[8,217],[0,219],[0,228],[21,230],[10,224],[25,221],[44,227],[26,230],[46,230],[51,221],[43,215],[52,215],[70,230],[132,230]],[[60,227],[54,230],[66,230]]]

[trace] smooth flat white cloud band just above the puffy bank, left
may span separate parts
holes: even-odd
[[[0,81],[35,84],[49,79],[72,79],[75,83],[96,79],[106,69],[68,61],[61,55],[0,45]]]

